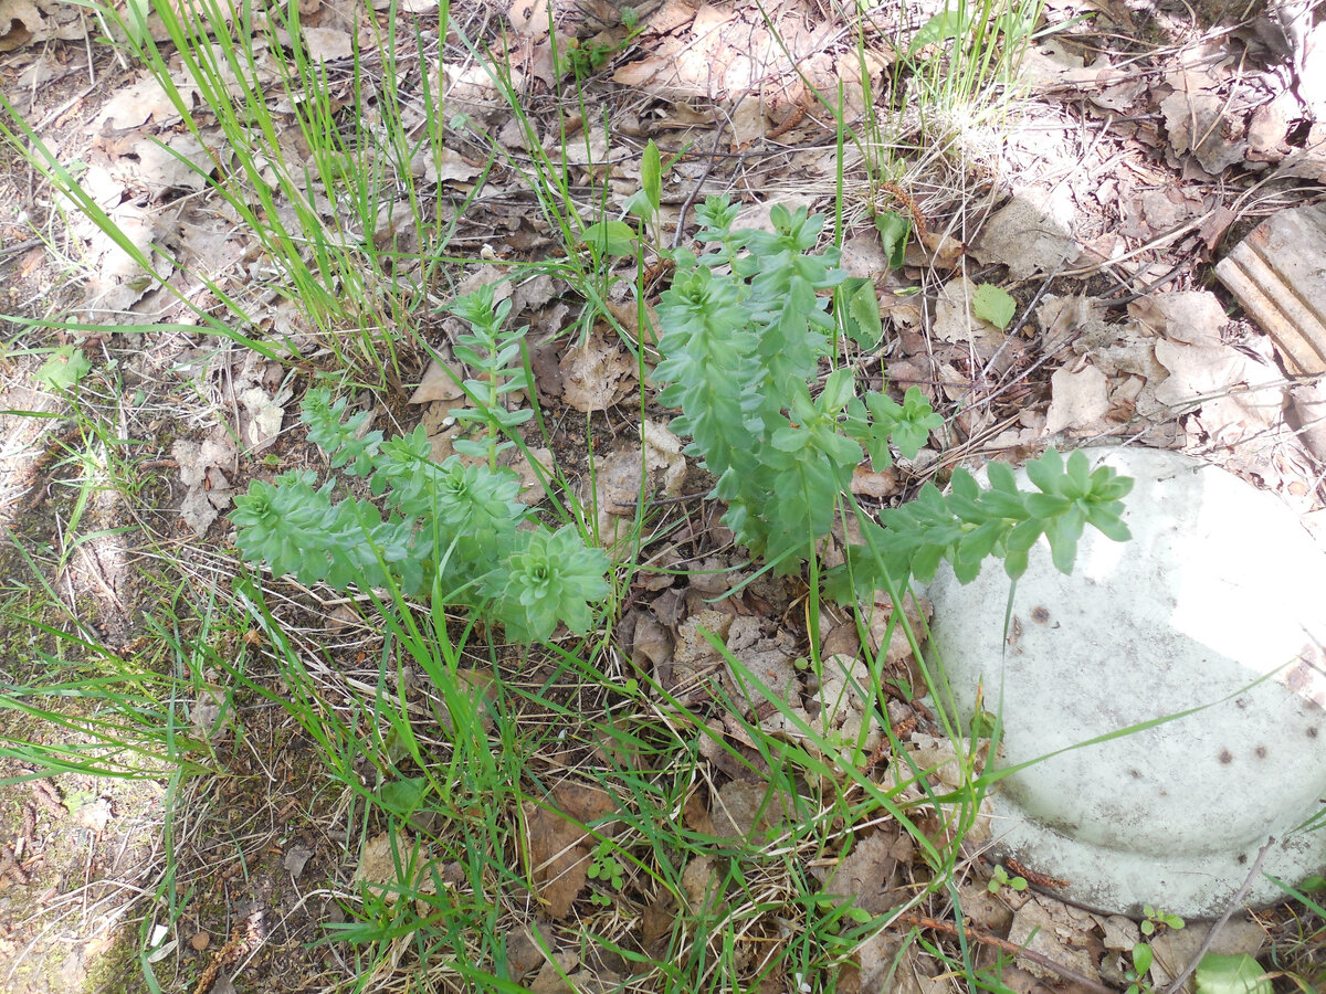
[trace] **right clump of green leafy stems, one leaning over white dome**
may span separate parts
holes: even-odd
[[[843,280],[835,249],[813,252],[823,219],[776,205],[773,233],[732,231],[736,208],[724,197],[709,197],[696,213],[699,240],[711,250],[675,253],[676,273],[659,304],[663,360],[654,376],[667,384],[663,403],[682,408],[672,429],[691,436],[688,453],[717,477],[724,524],[776,571],[792,573],[831,529],[862,459],[875,469],[888,467],[894,451],[914,459],[943,419],[916,387],[902,403],[858,396],[849,368],[830,372],[812,395],[837,347],[825,292]],[[928,580],[944,559],[967,582],[991,555],[1017,578],[1041,535],[1067,573],[1086,525],[1128,537],[1120,500],[1131,480],[1106,467],[1091,470],[1081,452],[1065,464],[1054,449],[1028,474],[1038,493],[1018,490],[998,463],[984,490],[957,469],[949,494],[927,485],[878,524],[863,520],[867,542],[829,571],[829,592],[846,600],[888,579]]]

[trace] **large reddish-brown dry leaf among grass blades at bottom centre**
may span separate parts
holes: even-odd
[[[607,791],[573,782],[553,787],[545,804],[524,804],[530,869],[538,896],[554,918],[565,918],[585,887],[590,836],[581,827],[617,811]],[[602,831],[602,826],[595,826]]]

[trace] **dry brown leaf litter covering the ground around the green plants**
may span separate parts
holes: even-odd
[[[261,290],[273,274],[260,248],[186,164],[206,167],[208,150],[224,144],[220,133],[204,129],[203,142],[183,134],[160,87],[138,68],[113,61],[70,8],[34,1],[3,9],[9,15],[0,19],[5,91],[62,159],[82,163],[80,182],[174,288],[155,286],[102,229],[52,209],[60,204],[48,196],[29,196],[16,166],[7,180],[16,207],[0,217],[15,307],[73,313],[99,330],[54,341],[29,331],[25,345],[64,351],[53,354],[60,360],[53,366],[15,363],[9,390],[21,400],[7,407],[46,403],[45,410],[68,411],[50,399],[57,387],[77,390],[84,417],[114,421],[123,437],[143,440],[134,473],[149,485],[115,492],[101,520],[107,534],[84,545],[110,561],[109,553],[122,555],[126,545],[142,551],[166,543],[175,550],[187,599],[211,603],[231,586],[233,565],[216,550],[228,543],[233,493],[284,469],[321,468],[320,453],[292,428],[292,407],[314,374],[337,372],[338,353],[298,306]],[[684,961],[675,944],[684,936],[703,945],[686,932],[684,922],[697,920],[741,922],[740,941],[723,961],[735,979],[766,990],[821,983],[793,969],[788,950],[796,948],[797,918],[788,917],[786,896],[818,887],[853,895],[866,916],[883,914],[911,901],[931,871],[918,839],[890,822],[834,827],[825,835],[833,846],[817,850],[814,836],[798,828],[806,799],[770,789],[776,763],[768,742],[800,738],[804,746],[798,729],[818,722],[843,742],[867,744],[866,754],[821,757],[829,779],[850,762],[880,783],[896,769],[879,726],[887,717],[911,762],[928,771],[928,790],[937,793],[971,775],[980,745],[955,745],[918,700],[923,681],[906,640],[888,626],[894,607],[886,602],[865,630],[826,612],[818,636],[827,665],[808,672],[805,586],[758,574],[731,547],[721,508],[704,500],[708,481],[687,464],[684,440],[668,431],[672,412],[654,400],[647,363],[640,382],[631,345],[647,341],[648,325],[639,327],[634,266],[619,262],[602,273],[590,306],[585,288],[561,265],[565,239],[530,178],[552,167],[585,223],[615,217],[639,188],[640,148],[652,139],[671,160],[662,231],[667,244],[678,244],[690,231],[693,204],[711,192],[725,191],[744,204],[739,225],[765,224],[772,203],[837,217],[841,170],[843,268],[858,288],[870,288],[880,315],[878,329],[863,330],[871,347],[855,358],[874,386],[918,386],[947,419],[918,459],[858,473],[854,490],[863,500],[904,500],[920,482],[943,480],[959,460],[1021,461],[1050,443],[1115,437],[1184,448],[1228,465],[1311,520],[1322,504],[1326,452],[1301,428],[1311,421],[1317,396],[1310,384],[1285,375],[1258,329],[1229,317],[1211,262],[1261,217],[1319,196],[1326,93],[1313,76],[1317,64],[1305,57],[1319,32],[1307,24],[1310,15],[1305,21],[1289,7],[1250,12],[1236,24],[1224,11],[1181,5],[1050,3],[1044,23],[1062,30],[1029,45],[1020,74],[1026,94],[991,117],[971,114],[963,101],[923,99],[930,91],[918,81],[934,85],[935,77],[922,66],[937,58],[927,46],[963,28],[943,19],[935,28],[941,12],[934,4],[911,7],[906,17],[894,8],[865,12],[859,48],[854,13],[792,3],[663,0],[627,17],[610,3],[453,8],[452,21],[465,36],[484,41],[484,57],[455,37],[439,38],[427,4],[396,13],[420,25],[419,33],[400,36],[396,65],[407,80],[427,66],[428,78],[443,81],[451,126],[444,150],[420,162],[418,179],[453,223],[447,253],[483,265],[457,266],[451,285],[428,288],[415,327],[391,330],[386,387],[359,391],[355,402],[389,433],[423,423],[435,455],[450,455],[457,431],[451,411],[464,399],[447,375],[448,368],[460,372],[447,349],[453,330],[431,311],[457,293],[496,284],[512,301],[512,319],[532,327],[538,402],[545,421],[556,425],[549,439],[529,435],[530,455],[544,468],[561,468],[597,509],[605,541],[639,542],[639,569],[599,656],[602,676],[623,685],[644,681],[659,692],[650,708],[629,716],[607,681],[577,680],[556,656],[497,644],[468,659],[476,698],[497,693],[496,672],[503,706],[541,744],[528,757],[530,781],[522,790],[530,799],[503,812],[518,826],[505,855],[528,868],[529,885],[524,896],[504,897],[500,930],[509,975],[532,990],[564,990],[568,982],[607,989],[633,974],[652,983],[656,977],[640,964]],[[346,95],[349,60],[374,37],[371,17],[381,13],[355,4],[301,5],[308,52],[333,80],[346,81]],[[923,25],[931,34],[916,45]],[[93,53],[90,66],[76,57],[84,46]],[[276,89],[277,54],[256,50],[255,72]],[[504,68],[501,78],[485,58]],[[273,110],[289,125],[278,99]],[[374,113],[371,102],[358,110]],[[839,143],[835,111],[861,140]],[[206,123],[206,109],[198,117]],[[871,131],[880,121],[888,130]],[[286,134],[289,154],[298,156],[294,129]],[[334,196],[318,201],[329,225],[342,208]],[[381,211],[371,237],[408,247],[404,208]],[[29,223],[73,260],[65,273],[46,244],[33,244]],[[646,301],[656,298],[666,278],[664,268],[650,268]],[[263,357],[191,330],[196,321],[180,298],[206,310],[217,293],[243,300],[253,318],[245,337],[280,342],[284,351]],[[644,315],[648,322],[648,307]],[[119,330],[125,326],[131,330]],[[30,432],[33,423],[7,417],[15,431]],[[24,447],[60,456],[70,448],[49,435]],[[24,459],[30,456],[9,457],[7,467],[23,496],[69,476],[40,460],[41,472],[32,472]],[[517,461],[513,468],[533,484],[533,467]],[[638,539],[630,529],[642,490],[650,529]],[[529,492],[537,497],[536,488]],[[113,529],[127,530],[115,538]],[[133,619],[154,610],[141,587],[121,590],[98,575],[89,569],[61,574],[73,584],[62,595],[70,614],[115,611]],[[265,588],[298,651],[334,664],[318,671],[318,693],[333,708],[351,706],[362,688],[379,684],[383,644],[371,608],[278,580]],[[117,604],[129,595],[131,604]],[[906,607],[916,626],[924,602]],[[211,741],[213,762],[227,770],[224,804],[208,803],[207,779],[186,794],[188,831],[171,871],[198,892],[163,936],[142,929],[143,945],[158,957],[154,969],[174,970],[198,990],[338,989],[338,974],[367,961],[342,946],[324,954],[305,942],[322,926],[342,924],[355,895],[399,889],[402,852],[422,872],[410,883],[423,896],[424,884],[434,893],[439,884],[457,885],[463,867],[442,855],[451,850],[434,839],[439,826],[374,819],[363,831],[342,801],[325,795],[306,730],[252,688],[228,684],[227,668],[217,665],[247,647],[249,679],[281,687],[280,660],[267,655],[269,634],[255,615],[240,616],[245,623],[233,632],[190,619],[195,644],[210,651],[191,663],[202,689],[188,713],[196,734]],[[139,635],[150,631],[117,631],[115,648]],[[728,664],[715,639],[740,667]],[[863,708],[854,689],[867,652],[882,652],[887,663],[878,710]],[[399,681],[391,689],[411,708],[436,716],[432,746],[446,753],[450,716],[438,688],[408,667],[386,679]],[[772,698],[785,708],[770,708]],[[825,710],[825,698],[839,706]],[[680,710],[670,710],[674,705]],[[788,713],[800,722],[789,722]],[[652,775],[639,742],[627,747],[630,737],[603,729],[623,720],[667,726],[676,714],[693,725],[676,736],[695,742],[690,782],[676,795],[676,831],[727,844],[692,856],[679,891],[670,892],[611,855],[622,847],[603,844],[639,840],[630,804],[613,785],[631,773]],[[312,762],[272,762],[277,754]],[[371,779],[370,763],[358,771]],[[65,787],[66,798],[72,790]],[[102,839],[93,847],[106,844],[102,832],[118,822],[123,838],[142,831],[137,818],[125,816],[127,803],[111,804],[109,818],[91,826]],[[32,810],[32,826],[20,824],[16,835],[27,840],[24,848],[11,854],[19,873],[5,864],[4,880],[11,888],[45,884],[58,892],[54,877],[44,876],[44,865],[58,861],[33,863],[32,854],[34,846],[58,848],[54,819],[64,816]],[[947,990],[943,956],[960,961],[968,945],[975,969],[1005,956],[1000,975],[1012,990],[1119,983],[1127,953],[1140,941],[1136,925],[1070,908],[1054,899],[1053,887],[991,893],[980,856],[989,830],[979,824],[979,812],[968,814],[955,891],[963,921],[977,932],[960,938],[953,892],[931,899],[865,945],[842,942],[839,987],[878,987],[890,977],[892,990]],[[951,815],[922,804],[916,826],[943,847],[953,840]],[[581,827],[589,823],[593,834]],[[623,835],[623,826],[636,835]],[[217,844],[217,835],[229,844]],[[764,895],[772,911],[731,907],[724,891],[729,850],[765,847],[778,856],[780,839],[793,842],[790,856],[760,861],[760,876],[747,881],[747,893]],[[138,876],[119,864],[102,872],[151,891],[160,869],[156,857],[145,860]],[[794,881],[796,875],[814,884]],[[65,916],[57,921],[70,914],[68,905],[53,913]],[[141,907],[126,913],[155,920]],[[13,962],[49,949],[50,920],[36,911],[20,918],[4,948]],[[1227,929],[1224,941],[1229,952],[1256,953],[1280,948],[1273,940],[1293,946],[1289,932],[1276,914],[1254,916]],[[1156,940],[1158,970],[1181,969],[1195,948],[1184,942],[1199,933],[1189,925]],[[586,944],[585,936],[603,941]],[[937,945],[927,952],[918,936]],[[1012,965],[1009,957],[1024,945],[1045,962],[1024,957]],[[117,954],[131,956],[123,948]],[[399,961],[371,965],[375,990],[404,987],[422,969],[406,950]],[[439,969],[438,982],[459,982]],[[1163,982],[1160,973],[1155,978]]]

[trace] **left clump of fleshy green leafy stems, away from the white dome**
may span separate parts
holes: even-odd
[[[302,583],[342,591],[395,586],[408,596],[440,598],[479,611],[517,641],[545,640],[560,623],[582,635],[591,606],[609,594],[607,555],[587,547],[573,525],[550,531],[538,522],[517,500],[516,474],[495,464],[511,444],[500,432],[529,416],[501,407],[525,386],[524,374],[513,372],[524,329],[501,331],[505,310],[492,307],[491,290],[463,298],[456,310],[475,326],[457,355],[483,374],[465,388],[483,402],[468,420],[488,428],[473,443],[487,465],[465,465],[460,456],[434,463],[422,425],[390,440],[377,431],[361,437],[367,415],[345,420],[345,400],[333,404],[326,390],[312,390],[302,412],[309,437],[333,469],[367,477],[382,510],[367,500],[333,500],[334,481],[316,488],[312,470],[255,481],[235,500],[240,553]]]

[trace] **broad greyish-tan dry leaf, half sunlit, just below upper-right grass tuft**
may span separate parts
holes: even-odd
[[[1022,187],[985,224],[972,254],[981,265],[1002,262],[1014,280],[1052,273],[1077,256],[1074,213],[1067,187]]]

